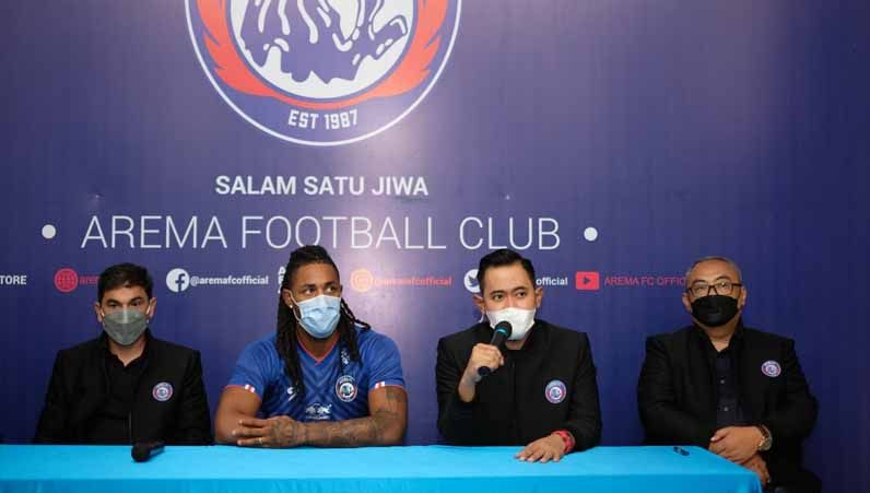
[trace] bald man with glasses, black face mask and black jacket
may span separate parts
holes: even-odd
[[[647,442],[707,448],[754,471],[766,491],[821,491],[801,466],[818,403],[795,342],[743,326],[748,292],[733,261],[696,261],[685,286],[694,324],[646,342],[637,403]]]

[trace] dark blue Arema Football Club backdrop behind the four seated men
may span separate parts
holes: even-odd
[[[513,245],[540,316],[590,336],[603,443],[636,444],[644,339],[687,321],[680,277],[718,254],[748,324],[797,340],[808,463],[870,489],[868,2],[301,3],[3,5],[4,441],[32,436],[56,351],[98,334],[106,266],[151,269],[153,330],[202,352],[213,408],[319,242],[403,354],[409,443],[437,441],[469,270]]]

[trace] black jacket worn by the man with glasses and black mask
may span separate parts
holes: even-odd
[[[708,344],[709,338],[696,326],[647,339],[637,404],[648,443],[709,446],[716,432],[718,386]],[[815,424],[818,403],[795,342],[741,324],[729,348],[744,420],[748,425],[766,425],[774,437],[773,448],[762,453],[771,478],[807,486],[814,477],[802,470],[801,442]],[[767,373],[762,368],[765,363]],[[777,367],[779,374],[773,376]]]

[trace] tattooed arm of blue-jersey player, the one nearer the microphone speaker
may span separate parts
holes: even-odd
[[[408,425],[408,396],[403,388],[388,386],[369,391],[368,412],[366,418],[315,423],[302,423],[290,416],[242,418],[231,433],[237,445],[250,447],[362,447],[401,443]]]

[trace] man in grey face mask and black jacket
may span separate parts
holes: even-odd
[[[99,274],[94,312],[103,333],[58,352],[34,442],[212,442],[199,352],[151,336],[152,287],[132,263]]]

